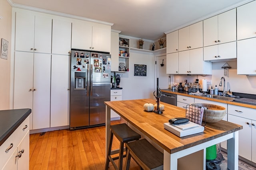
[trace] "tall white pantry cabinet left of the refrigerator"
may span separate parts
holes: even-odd
[[[14,109],[32,109],[31,129],[69,125],[72,23],[15,14]]]

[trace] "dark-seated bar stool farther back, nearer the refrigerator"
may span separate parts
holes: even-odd
[[[115,135],[116,138],[120,141],[119,156],[116,156],[114,158],[111,157],[113,135]],[[110,161],[112,162],[116,170],[122,170],[123,158],[126,157],[126,154],[124,155],[124,143],[136,141],[136,140],[139,140],[140,138],[141,138],[140,134],[133,131],[128,125],[126,125],[126,123],[122,123],[118,125],[110,125],[110,139],[109,139],[109,145],[108,145],[108,154],[106,157],[105,170],[108,169],[108,165]],[[117,159],[119,159],[118,167],[114,162],[114,160],[117,160]]]

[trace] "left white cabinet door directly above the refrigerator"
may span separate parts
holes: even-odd
[[[92,47],[92,25],[87,21],[72,22],[71,47],[75,49],[91,50]]]

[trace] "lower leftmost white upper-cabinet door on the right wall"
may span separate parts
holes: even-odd
[[[179,52],[166,55],[166,74],[178,74],[179,71]]]

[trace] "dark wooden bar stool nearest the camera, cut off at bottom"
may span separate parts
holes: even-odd
[[[129,170],[131,157],[144,170],[163,170],[164,154],[146,139],[126,143],[126,170]]]

